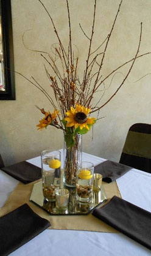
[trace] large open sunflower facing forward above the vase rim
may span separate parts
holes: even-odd
[[[96,120],[96,118],[88,118],[87,115],[90,111],[91,108],[85,108],[81,105],[76,105],[76,108],[71,107],[71,110],[66,112],[66,115],[68,116],[68,118],[65,118],[68,122],[66,127],[74,126],[75,129],[80,127],[80,130],[83,128],[89,130],[90,128],[88,127],[88,124],[94,124],[94,120]]]

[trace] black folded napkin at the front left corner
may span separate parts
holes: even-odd
[[[5,256],[26,244],[51,224],[24,204],[0,218],[0,255]]]

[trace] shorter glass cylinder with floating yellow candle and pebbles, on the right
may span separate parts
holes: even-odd
[[[76,178],[76,197],[78,201],[91,202],[93,198],[93,173],[94,164],[82,162],[77,171]]]

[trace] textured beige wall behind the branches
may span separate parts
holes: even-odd
[[[63,43],[68,42],[68,20],[65,0],[43,0],[51,12]],[[97,0],[96,28],[93,49],[97,48],[110,32],[119,0]],[[85,67],[88,40],[79,28],[82,24],[86,34],[90,34],[93,18],[93,0],[69,0],[72,20],[72,38],[79,49],[80,68]],[[140,23],[142,21],[142,42],[139,54],[151,51],[151,1],[123,0],[108,52],[104,61],[104,75],[135,56]],[[12,0],[13,42],[15,70],[26,77],[35,77],[46,89],[49,81],[44,72],[44,60],[40,54],[28,48],[51,51],[52,43],[57,42],[52,24],[38,0]],[[83,135],[83,151],[111,160],[119,160],[128,127],[135,122],[150,122],[150,75],[133,83],[146,73],[151,73],[151,55],[138,59],[127,82],[118,94],[100,111],[100,119],[90,131]],[[105,92],[102,103],[116,90],[128,65],[120,70]],[[110,85],[107,81],[105,87]],[[38,156],[44,149],[63,147],[63,134],[49,127],[38,131],[36,125],[41,113],[34,107],[38,105],[52,111],[46,97],[30,85],[23,77],[15,74],[16,100],[0,102],[0,152],[5,165]],[[97,99],[95,99],[97,100]],[[92,116],[93,117],[93,116]],[[150,122],[151,123],[151,122]],[[93,140],[91,140],[93,135]]]

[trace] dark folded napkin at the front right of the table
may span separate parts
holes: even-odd
[[[93,215],[151,249],[151,213],[149,211],[115,195],[107,205],[94,209]]]

